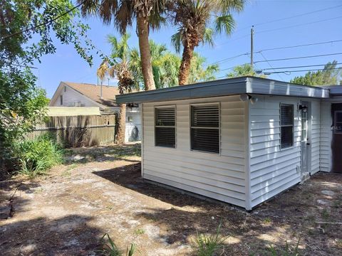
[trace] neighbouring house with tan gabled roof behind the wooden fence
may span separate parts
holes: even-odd
[[[120,107],[115,102],[115,95],[118,94],[118,88],[113,86],[61,82],[49,103],[49,112],[65,115],[66,111],[63,113],[58,110],[58,107],[73,107],[73,115],[85,114],[85,112],[89,114],[119,113]],[[81,107],[85,111],[80,111]],[[98,111],[94,110],[94,107],[97,107]],[[68,111],[68,113],[70,112]],[[128,104],[126,108],[126,142],[140,140],[140,124],[140,108],[138,105]]]

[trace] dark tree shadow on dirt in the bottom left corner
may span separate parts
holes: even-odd
[[[103,235],[89,224],[91,220],[83,215],[68,215],[1,225],[1,255],[90,255],[99,249]]]

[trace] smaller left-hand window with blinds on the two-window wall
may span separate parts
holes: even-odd
[[[155,146],[176,147],[175,106],[155,108]]]

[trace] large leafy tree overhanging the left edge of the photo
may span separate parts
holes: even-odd
[[[24,137],[45,114],[45,91],[36,86],[28,65],[55,53],[51,34],[73,44],[92,63],[90,42],[83,41],[88,26],[73,21],[77,6],[68,0],[0,0],[0,168],[11,157],[11,145]]]

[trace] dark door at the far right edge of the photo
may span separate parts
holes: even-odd
[[[332,151],[332,170],[342,174],[342,103],[331,104],[331,117],[333,119],[333,142]]]

